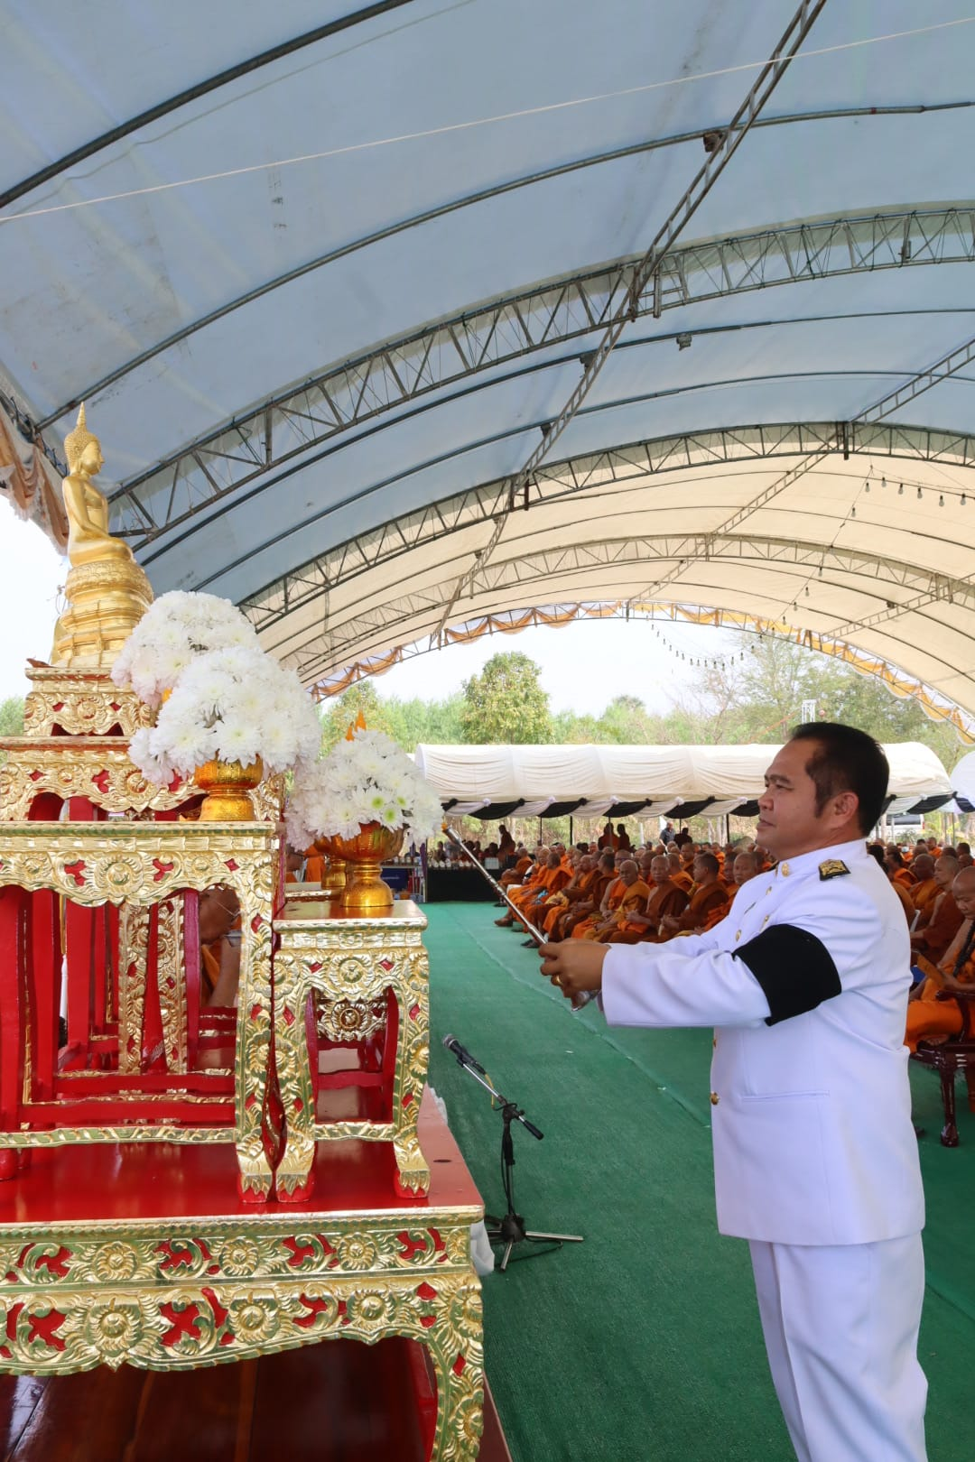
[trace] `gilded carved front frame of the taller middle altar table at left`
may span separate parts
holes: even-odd
[[[4,1132],[0,1146],[69,1142],[235,1142],[246,1193],[270,1192],[263,1113],[270,1063],[270,918],[278,836],[268,823],[7,823],[0,886],[54,889],[75,904],[162,904],[184,889],[224,883],[241,911],[234,1127],[73,1127]]]

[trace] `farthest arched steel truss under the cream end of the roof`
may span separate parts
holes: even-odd
[[[669,534],[573,544],[477,567],[469,580],[471,588],[465,596],[463,613],[468,618],[478,611],[485,613],[493,604],[510,596],[512,591],[526,591],[525,599],[519,602],[531,602],[539,583],[548,585],[557,595],[560,589],[557,580],[564,576],[572,577],[567,589],[573,598],[577,598],[580,575],[614,567],[633,570],[648,560],[667,561],[675,557],[687,560],[680,564],[678,573],[686,572],[694,561],[731,561],[747,564],[751,569],[798,569],[814,575],[817,582],[822,575],[824,585],[839,588],[851,588],[851,585],[838,582],[835,576],[851,575],[862,577],[868,585],[867,592],[874,595],[880,583],[892,591],[906,591],[919,596],[947,598],[950,595],[955,604],[975,610],[975,585],[968,580],[918,569],[912,563],[879,554],[839,550],[816,542],[797,542],[786,538]],[[449,570],[449,563],[444,564],[444,570]],[[677,594],[680,594],[680,588],[677,585]],[[425,621],[418,624],[418,632],[412,637],[418,637],[420,632],[425,633],[430,626],[437,626],[443,607],[443,589],[444,585],[439,583],[420,592],[399,595],[379,605],[348,605],[342,623],[329,626],[327,648],[316,645],[307,655],[298,649],[285,655],[285,659],[295,665],[303,680],[308,681],[322,678],[363,654],[386,652],[389,648],[386,637],[395,632],[398,624]],[[630,599],[629,604],[631,608],[640,607],[639,599]],[[482,610],[481,605],[485,608]],[[814,610],[814,604],[811,608]],[[829,636],[832,639],[842,637],[832,630]],[[437,633],[431,636],[431,640],[443,643]]]

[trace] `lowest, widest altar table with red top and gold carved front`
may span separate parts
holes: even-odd
[[[332,1102],[352,1110],[354,1096]],[[395,1196],[390,1149],[344,1140],[319,1146],[314,1200],[288,1208],[237,1199],[227,1148],[37,1154],[0,1184],[0,1371],[186,1370],[408,1336],[436,1377],[430,1458],[472,1462],[484,1380],[469,1225],[482,1208],[428,1099],[420,1136],[425,1197]]]

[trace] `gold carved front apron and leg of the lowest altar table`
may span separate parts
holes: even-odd
[[[0,1235],[0,1371],[123,1363],[218,1364],[317,1344],[405,1335],[437,1377],[433,1458],[474,1462],[482,1424],[479,1208],[289,1215],[256,1209],[161,1235],[148,1224],[66,1224]]]

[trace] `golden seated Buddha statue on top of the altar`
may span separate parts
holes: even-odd
[[[132,548],[108,532],[108,503],[95,487],[104,458],[88,430],[85,404],[64,439],[69,472],[63,482],[70,572],[67,610],[54,629],[53,665],[110,670],[126,639],[152,604],[152,588]]]

